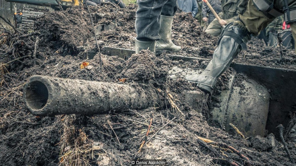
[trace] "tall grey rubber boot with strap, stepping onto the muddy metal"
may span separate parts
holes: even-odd
[[[249,32],[233,26],[229,23],[223,29],[218,47],[213,53],[213,59],[207,65],[205,71],[197,75],[186,75],[185,79],[189,82],[197,83],[202,91],[212,93],[217,79],[226,71],[235,56],[242,50],[246,50],[246,42],[250,39]]]

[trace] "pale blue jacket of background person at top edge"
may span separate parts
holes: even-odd
[[[195,15],[198,12],[198,7],[197,7],[197,1],[196,0],[177,0],[178,7],[181,9],[183,12],[191,12],[192,17],[195,17]]]

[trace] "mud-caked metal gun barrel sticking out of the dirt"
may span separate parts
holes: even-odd
[[[98,114],[160,106],[161,94],[143,85],[126,85],[48,76],[32,76],[24,86],[33,115]]]

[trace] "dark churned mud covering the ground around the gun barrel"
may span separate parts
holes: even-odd
[[[129,5],[126,9],[109,5],[89,8],[100,48],[133,48],[136,36],[135,5]],[[198,88],[182,78],[170,80],[168,69],[172,66],[203,69],[205,62],[173,61],[165,54],[156,58],[145,51],[127,61],[116,55],[101,55],[101,63],[99,54],[87,60],[88,53],[98,50],[86,11],[81,7],[73,7],[66,11],[47,13],[38,19],[34,30],[40,33],[38,36],[42,42],[38,44],[36,57],[24,57],[6,66],[8,72],[1,75],[0,165],[131,165],[134,159],[166,159],[169,165],[229,165],[220,157],[247,165],[237,154],[224,152],[226,157],[219,147],[211,147],[221,156],[217,155],[215,151],[199,144],[196,136],[236,148],[249,157],[253,165],[295,165],[289,161],[283,145],[277,140],[275,145],[271,145],[268,138],[242,139],[237,134],[230,135],[208,125],[209,111],[213,105],[219,104],[215,96],[227,88],[226,82],[232,69],[218,79],[214,95],[202,114],[197,113],[184,102],[181,93],[183,90],[198,91]],[[173,26],[173,42],[181,45],[182,55],[211,58],[218,38],[202,32],[191,14],[178,11],[174,25],[177,26]],[[7,32],[7,40],[1,40],[1,62],[33,54],[37,35],[11,40],[15,36],[17,34]],[[283,61],[279,62],[277,48],[266,48],[263,42],[256,39],[250,42],[253,43],[248,44],[249,51],[242,52],[235,61],[295,70],[295,53],[284,51]],[[89,67],[80,69],[84,61],[89,62]],[[155,105],[144,110],[110,111],[92,116],[34,116],[25,109],[22,92],[24,83],[32,75],[127,85],[144,83],[153,90],[158,89],[162,95],[166,95],[166,92],[171,94],[182,113],[171,108],[168,100],[165,100],[164,108]],[[126,82],[120,82],[119,79],[124,78]],[[236,83],[237,86],[241,85],[239,81]],[[145,140],[151,115],[153,120],[148,139],[166,123],[173,121],[163,127],[138,153]],[[293,135],[288,138],[288,148],[296,160],[296,139]]]

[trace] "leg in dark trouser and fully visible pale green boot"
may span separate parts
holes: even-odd
[[[171,32],[174,15],[178,9],[176,0],[168,0],[161,11],[160,16],[160,40],[156,41],[157,51],[180,51],[181,47],[176,46],[171,40]]]

